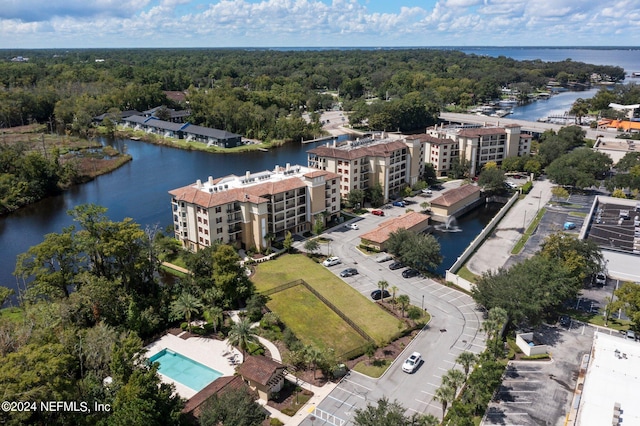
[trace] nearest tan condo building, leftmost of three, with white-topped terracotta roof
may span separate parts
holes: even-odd
[[[169,191],[176,238],[192,251],[219,241],[261,250],[287,231],[340,214],[340,176],[303,166],[229,175]]]

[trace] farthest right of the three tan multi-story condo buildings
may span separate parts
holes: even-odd
[[[427,159],[431,160],[438,176],[446,176],[451,163],[463,157],[469,161],[470,174],[475,176],[490,161],[500,165],[507,157],[524,156],[531,152],[531,135],[522,133],[520,129],[517,124],[504,127],[466,125],[429,128],[426,151],[430,156]]]

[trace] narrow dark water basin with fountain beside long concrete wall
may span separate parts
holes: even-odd
[[[442,264],[435,271],[438,275],[445,275],[447,269],[501,208],[502,204],[499,203],[484,204],[460,216],[456,222],[435,226],[433,236],[440,243],[443,257]]]

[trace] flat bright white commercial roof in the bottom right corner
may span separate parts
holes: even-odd
[[[609,425],[619,407],[621,425],[640,424],[640,343],[596,332],[576,424]]]

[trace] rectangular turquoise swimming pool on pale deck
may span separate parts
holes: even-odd
[[[173,352],[170,349],[161,350],[149,358],[149,360],[160,364],[158,371],[161,374],[197,392],[222,376],[222,373],[219,371],[200,364],[184,355],[180,355],[177,352]]]

